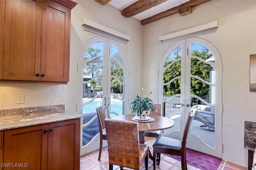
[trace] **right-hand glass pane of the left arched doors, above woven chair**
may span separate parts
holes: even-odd
[[[124,59],[118,49],[111,44],[111,76],[110,76],[110,116],[124,114]]]

